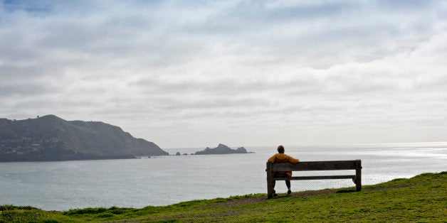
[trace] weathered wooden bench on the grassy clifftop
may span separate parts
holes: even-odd
[[[276,171],[312,171],[312,170],[355,170],[355,175],[315,175],[287,178],[275,178]],[[352,179],[355,190],[362,190],[362,161],[311,161],[298,163],[267,163],[267,197],[273,197],[273,180],[325,180],[325,179]]]

